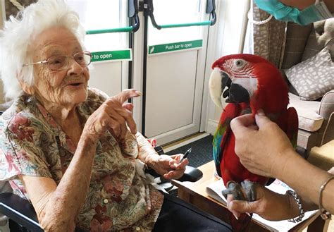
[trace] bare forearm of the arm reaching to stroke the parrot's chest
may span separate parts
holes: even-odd
[[[304,199],[308,209],[314,209],[319,202],[320,187],[328,179],[330,173],[318,169],[292,150],[281,157],[285,159],[281,163],[284,165],[280,167],[275,177],[293,188]],[[332,213],[334,212],[333,193],[334,181],[331,181],[323,190],[322,202],[323,207]]]

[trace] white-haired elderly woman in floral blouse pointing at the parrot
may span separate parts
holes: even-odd
[[[188,161],[159,156],[136,133],[139,92],[87,88],[85,31],[63,1],[38,1],[1,32],[1,79],[14,99],[1,116],[0,180],[30,200],[46,231],[230,231],[144,176],[180,178]],[[128,125],[128,127],[126,126]]]

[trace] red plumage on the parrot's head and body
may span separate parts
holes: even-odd
[[[245,64],[247,68],[245,70],[235,68],[231,59],[234,61],[235,59],[243,59],[247,62]],[[297,144],[298,116],[294,108],[287,109],[289,104],[287,84],[278,68],[261,56],[251,54],[223,56],[214,62],[212,68],[220,68],[221,71],[233,76],[234,80],[237,78],[256,78],[257,80],[256,90],[252,92],[249,103],[230,103],[221,115],[219,125],[226,127],[221,140],[221,155],[219,155],[221,157],[219,169],[223,182],[225,186],[227,186],[228,181],[241,183],[245,180],[265,185],[268,178],[249,172],[242,166],[240,159],[235,154],[235,135],[230,129],[230,121],[242,115],[243,110],[249,107],[253,116],[259,109],[262,109],[264,114],[271,118],[271,121],[277,123],[287,134],[292,144]],[[233,231],[245,231],[247,229],[245,225],[248,224],[250,219],[247,214],[242,214],[242,220],[238,221],[232,217]]]

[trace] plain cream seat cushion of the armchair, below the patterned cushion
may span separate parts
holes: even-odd
[[[294,107],[298,114],[299,128],[314,132],[321,128],[323,117],[318,114],[321,102],[303,101],[289,92],[289,107]]]

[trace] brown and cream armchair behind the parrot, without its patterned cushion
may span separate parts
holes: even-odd
[[[329,82],[324,85],[332,87],[329,87],[328,92],[320,99],[300,99],[295,88],[287,80],[290,87],[290,106],[297,109],[299,118],[297,149],[299,153],[308,157],[312,147],[320,147],[334,139],[334,18],[306,26],[288,23],[286,33],[282,63],[285,73],[298,63],[304,62],[307,65],[307,61],[319,54],[325,46],[331,58],[330,71],[325,74]],[[297,75],[303,78],[302,72],[297,72]]]

